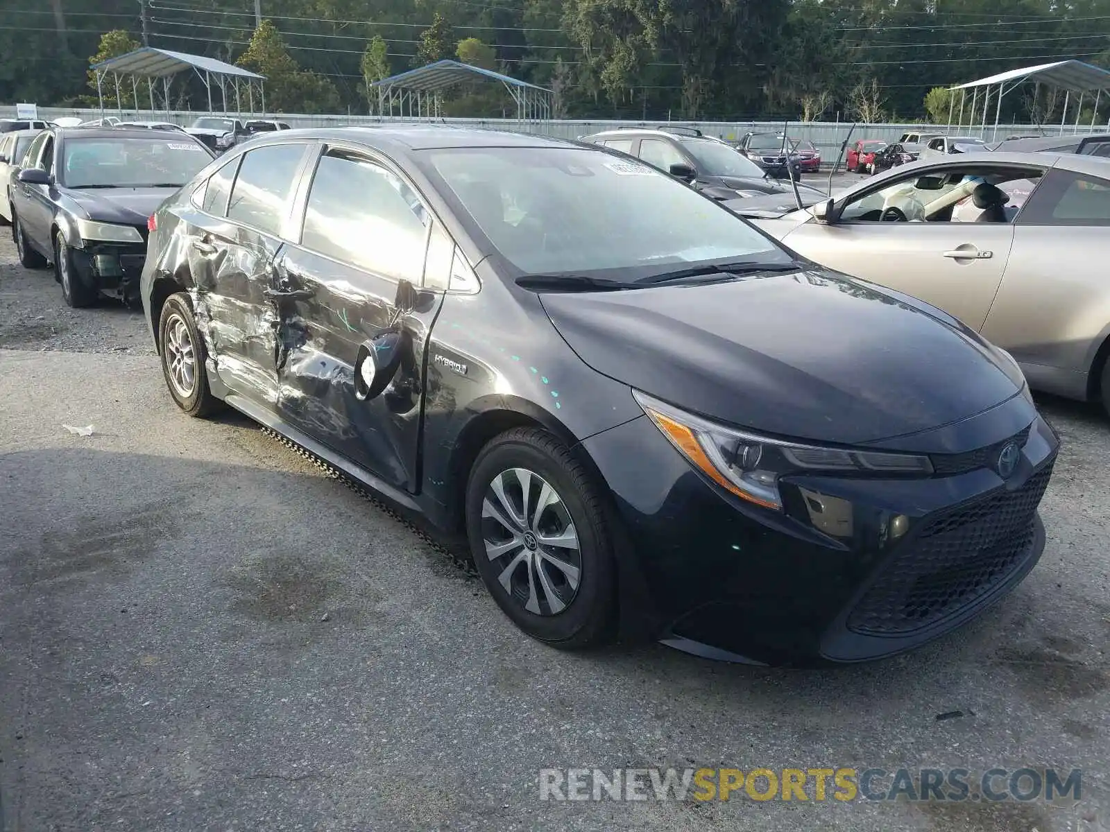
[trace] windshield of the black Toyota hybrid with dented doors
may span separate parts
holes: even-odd
[[[790,262],[726,209],[634,160],[569,148],[425,153],[428,173],[525,274],[627,281],[718,261]]]

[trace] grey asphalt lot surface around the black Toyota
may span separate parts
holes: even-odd
[[[819,672],[567,655],[248,420],[181,415],[141,315],[68,310],[7,231],[0,829],[1107,829],[1097,408],[1041,400],[1063,442],[1045,556],[939,642]],[[652,765],[1083,774],[1063,806],[539,800],[542,768]]]

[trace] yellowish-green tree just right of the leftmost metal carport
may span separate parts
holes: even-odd
[[[329,113],[340,106],[334,84],[323,75],[302,70],[269,20],[263,20],[246,51],[235,62],[265,75],[266,109],[286,113]]]

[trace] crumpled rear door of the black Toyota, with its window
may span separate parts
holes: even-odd
[[[209,179],[189,241],[196,321],[220,378],[271,409],[278,404],[273,262],[307,148],[262,146],[230,160]]]

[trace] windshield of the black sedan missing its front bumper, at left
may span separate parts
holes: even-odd
[[[60,183],[65,187],[181,187],[212,156],[188,136],[68,139]]]

